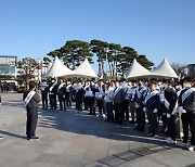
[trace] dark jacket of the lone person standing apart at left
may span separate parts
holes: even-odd
[[[23,101],[26,99],[26,97],[28,95],[28,93],[30,92],[30,90],[27,90],[24,92],[23,94]],[[40,95],[38,93],[35,93],[35,95],[31,98],[31,100],[29,101],[29,103],[27,104],[27,108],[31,107],[31,108],[37,108],[38,107],[38,103],[41,101]]]

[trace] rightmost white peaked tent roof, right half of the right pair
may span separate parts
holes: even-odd
[[[154,75],[168,77],[168,78],[178,78],[178,75],[170,66],[167,59],[165,59],[153,72]]]

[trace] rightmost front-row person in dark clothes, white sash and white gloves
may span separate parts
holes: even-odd
[[[185,78],[183,82],[184,89],[179,97],[179,110],[182,113],[183,124],[183,146],[187,146],[188,127],[191,129],[192,138],[188,151],[195,151],[195,88],[194,80]]]

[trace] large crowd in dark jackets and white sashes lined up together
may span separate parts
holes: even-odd
[[[63,79],[51,79],[50,84],[41,84],[42,107],[60,111],[72,107],[76,102],[76,110],[81,113],[89,111],[89,115],[103,116],[104,121],[122,125],[123,121],[135,124],[134,130],[146,129],[148,120],[148,137],[158,138],[159,120],[162,131],[167,134],[167,143],[177,144],[176,119],[178,111],[181,113],[183,126],[183,143],[190,151],[195,150],[195,81],[185,78],[183,81],[172,80],[78,80],[75,84]],[[48,101],[49,97],[49,101]],[[98,107],[98,110],[96,110]],[[98,112],[98,113],[96,113]],[[188,129],[190,127],[190,129]],[[191,130],[191,144],[188,144]]]

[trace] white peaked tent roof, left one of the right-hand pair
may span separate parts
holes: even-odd
[[[131,66],[126,73],[126,78],[146,77],[146,76],[154,76],[154,74],[147,70],[146,68],[144,68],[134,59]]]

